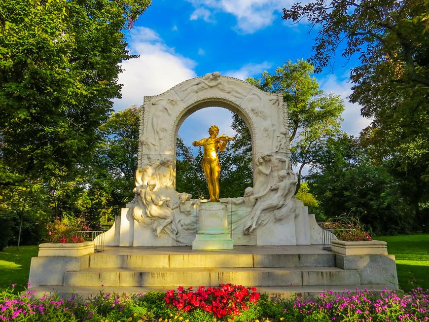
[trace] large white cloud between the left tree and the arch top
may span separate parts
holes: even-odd
[[[196,63],[175,53],[153,30],[135,27],[127,41],[131,52],[140,57],[122,63],[124,72],[118,82],[124,86],[122,99],[113,100],[115,110],[140,106],[143,96],[161,94],[196,76]]]

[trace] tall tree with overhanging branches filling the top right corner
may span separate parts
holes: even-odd
[[[346,58],[358,57],[350,100],[374,120],[367,133],[371,153],[417,180],[429,178],[428,12],[428,0],[317,0],[296,3],[283,16],[318,29],[317,71],[338,48]]]

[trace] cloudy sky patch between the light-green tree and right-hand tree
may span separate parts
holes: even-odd
[[[351,84],[347,80],[339,80],[336,75],[329,75],[318,80],[323,91],[338,94],[344,100],[342,129],[348,135],[357,137],[363,128],[371,124],[371,119],[362,117],[360,106],[349,102],[349,95],[352,94]]]

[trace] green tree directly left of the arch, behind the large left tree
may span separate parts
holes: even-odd
[[[87,168],[87,195],[94,221],[109,221],[133,199],[139,153],[140,112],[136,106],[112,113],[99,127],[103,140]]]

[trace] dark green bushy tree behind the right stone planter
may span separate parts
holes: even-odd
[[[307,179],[325,218],[348,214],[377,234],[409,233],[415,213],[387,169],[373,164],[356,138],[343,134],[327,141]]]

